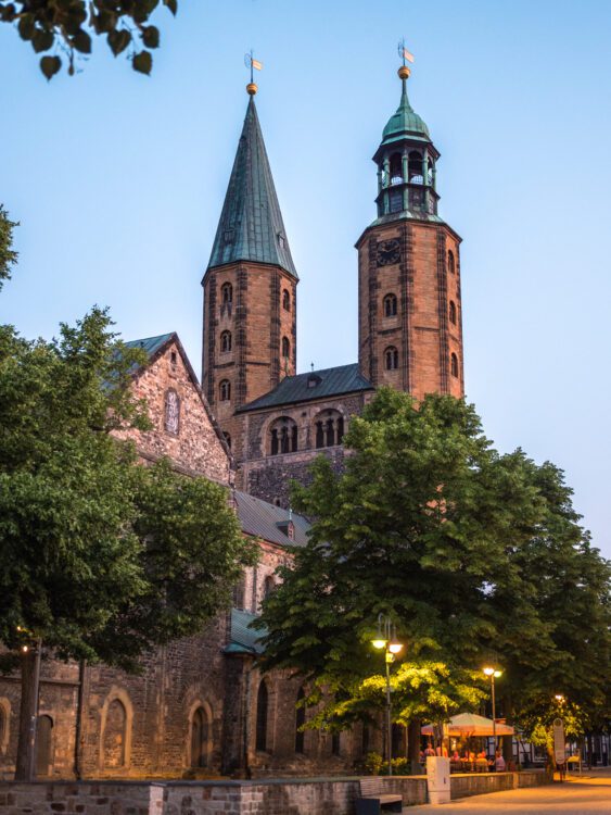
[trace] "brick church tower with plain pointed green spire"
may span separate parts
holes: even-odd
[[[234,453],[234,412],[296,366],[297,273],[255,106],[249,106],[204,287],[202,384]]]

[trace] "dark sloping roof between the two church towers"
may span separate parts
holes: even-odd
[[[253,402],[242,405],[238,412],[258,411],[262,408],[277,408],[281,404],[308,402],[313,399],[353,393],[360,390],[373,390],[371,383],[358,369],[358,363],[339,365],[334,368],[311,371],[307,374],[285,376],[282,381]]]

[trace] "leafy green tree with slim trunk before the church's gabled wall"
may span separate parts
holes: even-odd
[[[31,761],[41,647],[137,670],[227,606],[253,560],[226,489],[167,462],[142,466],[113,438],[148,418],[130,390],[141,352],[110,326],[93,309],[51,342],[0,327],[0,643],[4,667],[21,666],[17,778]]]

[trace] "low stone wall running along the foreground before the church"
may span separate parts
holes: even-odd
[[[540,770],[456,774],[451,798],[549,783]],[[427,776],[384,778],[404,805],[427,803]],[[354,815],[358,778],[254,781],[0,782],[0,815]]]

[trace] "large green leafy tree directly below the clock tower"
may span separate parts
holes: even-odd
[[[533,514],[536,494],[492,450],[473,409],[450,397],[417,408],[382,388],[345,444],[342,476],[320,457],[311,486],[295,489],[295,505],[315,522],[265,604],[265,666],[352,692],[379,670],[369,640],[384,612],[408,662],[473,667],[512,521]]]

